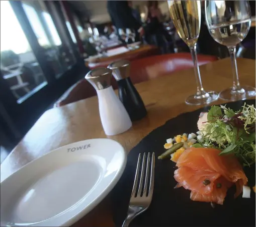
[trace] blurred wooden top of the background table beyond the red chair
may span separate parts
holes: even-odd
[[[129,58],[129,56],[132,55],[137,55],[137,54],[141,54],[143,52],[147,52],[153,49],[157,49],[157,47],[155,46],[151,46],[151,45],[141,45],[140,48],[135,49],[135,50],[129,50],[125,53],[121,53],[121,54],[117,54],[117,55],[113,55],[110,57],[102,57],[96,60],[96,62],[86,62],[86,66],[89,67],[90,69],[93,69],[95,67],[97,67],[99,65],[99,63],[107,63],[110,64],[113,61],[116,61],[118,59],[125,59],[125,58]]]

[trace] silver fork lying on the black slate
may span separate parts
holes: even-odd
[[[155,154],[153,152],[151,156],[151,171],[150,171],[150,181],[149,181],[150,185],[149,185],[148,195],[146,194],[147,194],[147,187],[148,187],[147,185],[148,185],[148,176],[149,176],[150,153],[147,154],[146,178],[145,178],[144,185],[142,184],[143,184],[143,178],[144,178],[146,154],[144,153],[143,155],[140,180],[138,182],[140,162],[141,162],[140,159],[141,159],[141,153],[139,154],[139,158],[138,158],[135,180],[132,188],[132,194],[130,198],[127,216],[124,220],[122,227],[128,226],[134,217],[144,212],[149,207],[152,200],[153,187],[154,187]],[[138,185],[139,185],[138,193],[136,194]],[[143,193],[141,195],[142,189],[143,189]]]

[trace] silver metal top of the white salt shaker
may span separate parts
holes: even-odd
[[[107,68],[97,68],[91,70],[86,75],[86,80],[89,81],[95,90],[103,90],[111,86],[112,70]]]

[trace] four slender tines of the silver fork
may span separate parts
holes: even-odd
[[[145,166],[145,162],[146,162],[146,153],[143,154],[142,165],[141,165],[141,153],[140,153],[138,158],[136,175],[135,175],[131,197],[137,197],[137,196],[152,197],[153,186],[154,186],[154,163],[155,163],[154,152],[152,153],[151,157],[150,157],[150,153],[147,154],[146,166]],[[146,169],[146,172],[145,172],[145,169]],[[140,179],[138,179],[139,176],[140,176]],[[144,179],[144,176],[145,176],[145,179]],[[149,182],[148,182],[148,177],[150,177]]]

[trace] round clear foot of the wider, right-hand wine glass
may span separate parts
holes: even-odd
[[[231,87],[220,92],[220,98],[226,101],[237,101],[255,97],[255,94],[255,88],[251,86],[242,86],[238,91],[234,91]]]

